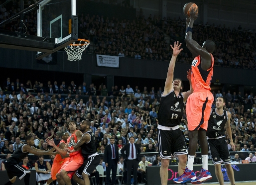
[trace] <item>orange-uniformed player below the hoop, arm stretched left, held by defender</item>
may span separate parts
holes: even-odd
[[[76,173],[77,169],[83,165],[84,158],[80,149],[74,150],[70,138],[74,138],[75,142],[79,141],[82,136],[82,132],[77,130],[76,122],[71,120],[68,122],[68,129],[70,130],[71,136],[67,139],[67,144],[64,150],[60,149],[55,145],[53,140],[46,139],[48,145],[55,148],[55,150],[62,156],[66,156],[66,148],[73,150],[74,152],[69,154],[69,160],[61,167],[60,171],[56,174],[56,178],[59,185],[71,185],[71,178]]]

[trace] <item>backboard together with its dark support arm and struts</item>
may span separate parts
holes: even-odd
[[[36,59],[42,59],[78,39],[76,0],[38,0],[5,22],[26,15],[32,8],[37,9],[37,36],[0,30],[0,47],[37,51]]]

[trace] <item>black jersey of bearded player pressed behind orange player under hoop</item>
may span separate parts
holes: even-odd
[[[95,141],[95,135],[91,131],[88,131],[84,134],[89,134],[91,136],[91,140],[88,143],[84,143],[81,146],[83,157],[87,158],[88,156],[97,153],[96,141]]]

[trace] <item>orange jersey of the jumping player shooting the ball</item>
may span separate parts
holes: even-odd
[[[207,71],[204,71],[201,68],[201,57],[198,55],[192,62],[191,69],[191,83],[193,90],[211,90],[210,85],[213,77],[213,65],[214,65],[214,58],[212,54],[212,66]]]

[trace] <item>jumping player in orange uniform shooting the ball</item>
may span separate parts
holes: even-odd
[[[206,40],[201,47],[192,39],[192,28],[197,17],[198,13],[194,8],[190,10],[190,17],[187,17],[186,20],[186,46],[192,55],[196,57],[191,66],[191,83],[194,92],[188,97],[186,105],[189,130],[188,163],[184,174],[174,179],[174,182],[179,184],[187,182],[188,179],[192,180],[192,184],[201,184],[212,179],[208,171],[206,131],[214,100],[213,94],[210,92],[210,84],[213,77],[214,58],[212,53],[215,50],[215,43],[211,40]],[[203,168],[196,178],[193,172],[193,163],[198,140],[202,151]]]

